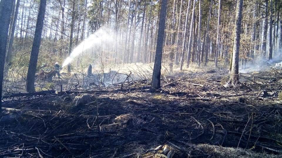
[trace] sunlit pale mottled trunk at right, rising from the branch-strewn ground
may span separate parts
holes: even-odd
[[[232,67],[231,67],[231,76],[230,76],[230,82],[233,85],[239,83],[239,50],[240,50],[242,11],[243,11],[243,0],[238,0],[236,7],[236,24],[234,28],[235,36],[234,36]]]

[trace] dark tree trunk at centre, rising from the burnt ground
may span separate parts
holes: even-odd
[[[160,78],[161,78],[161,68],[162,68],[162,47],[164,42],[166,14],[167,14],[167,0],[162,0],[161,10],[160,10],[160,20],[158,23],[159,29],[158,29],[156,56],[155,56],[154,70],[152,76],[152,85],[150,87],[151,92],[155,92],[161,87]]]

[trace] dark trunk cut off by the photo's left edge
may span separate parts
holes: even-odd
[[[9,24],[12,13],[13,1],[1,0],[0,4],[0,112],[2,107],[3,73],[8,40]]]

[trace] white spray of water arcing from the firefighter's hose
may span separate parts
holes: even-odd
[[[70,56],[63,62],[62,67],[67,66],[73,59],[75,59],[82,52],[99,47],[100,44],[107,43],[111,44],[114,42],[115,32],[107,27],[102,27],[99,30],[91,34],[87,39],[83,40],[77,47],[73,49]]]

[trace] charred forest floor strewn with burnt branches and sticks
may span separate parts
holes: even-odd
[[[229,77],[201,68],[162,75],[158,93],[146,78],[4,94],[0,157],[282,157],[282,69]]]

